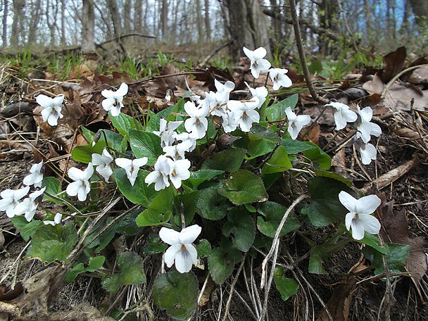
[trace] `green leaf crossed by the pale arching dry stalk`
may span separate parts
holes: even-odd
[[[264,216],[257,217],[257,228],[264,235],[274,237],[282,217],[286,212],[286,207],[275,202],[264,202],[260,204],[257,211]],[[294,231],[300,226],[300,222],[294,217],[292,213],[286,218],[284,226],[282,226],[280,236],[286,235]]]

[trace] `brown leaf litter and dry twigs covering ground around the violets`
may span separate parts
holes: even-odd
[[[175,56],[179,57],[179,54],[175,54]],[[409,62],[411,61],[407,61],[407,64]],[[90,64],[95,64],[95,61]],[[427,63],[425,62],[425,64]],[[94,73],[91,66],[89,68],[84,66],[86,65],[82,64],[79,70],[81,79],[70,76],[70,79],[66,79],[66,81],[59,81],[55,79],[55,75],[48,75],[48,72],[44,71],[41,71],[41,74],[44,73],[45,80],[50,81],[37,80],[41,78],[40,70],[37,77],[33,77],[36,80],[32,81],[31,75],[26,75],[26,77],[21,75],[19,66],[4,65],[1,67],[0,89],[3,93],[3,114],[1,114],[0,122],[2,136],[0,139],[1,191],[19,186],[30,166],[34,164],[35,159],[38,159],[37,153],[45,153],[51,158],[57,157],[59,168],[72,166],[68,153],[70,147],[76,144],[73,133],[47,132],[46,128],[37,126],[39,122],[32,115],[33,108],[37,106],[34,101],[35,93],[41,93],[43,90],[67,93],[72,104],[79,104],[86,110],[90,110],[86,119],[79,119],[84,122],[81,124],[89,124],[92,126],[91,128],[100,128],[108,126],[108,119],[102,113],[95,115],[93,112],[99,108],[100,104],[94,106],[86,99],[89,94],[92,99],[100,101],[99,91],[97,92],[99,82],[110,81],[110,84],[120,84],[120,81],[126,81],[132,88],[130,92],[135,94],[141,110],[144,110],[147,102],[150,102],[150,108],[155,107],[153,110],[162,110],[168,106],[164,100],[167,88],[175,88],[175,95],[180,97],[186,92],[186,83],[191,88],[198,88],[197,93],[203,93],[213,87],[213,77],[235,81],[237,90],[245,89],[243,81],[251,81],[248,73],[245,74],[242,71],[247,69],[242,65],[230,70],[213,66],[211,68],[193,68],[195,71],[203,71],[202,75],[186,79],[184,76],[152,79],[148,82],[130,79],[123,73],[104,77]],[[428,71],[425,67],[423,71],[425,80],[422,77],[419,84],[416,84],[420,88],[422,98],[420,101],[416,101],[415,106],[411,108],[407,108],[408,106],[398,108],[398,104],[391,103],[394,101],[393,98],[388,101],[377,97],[376,88],[373,89],[373,86],[376,85],[373,84],[376,76],[363,79],[363,75],[358,73],[362,71],[353,70],[355,73],[349,77],[345,76],[344,78],[347,80],[344,81],[319,78],[320,83],[325,83],[325,85],[322,84],[318,87],[321,88],[320,93],[328,99],[335,98],[345,104],[353,106],[359,104],[362,107],[371,106],[373,108],[373,119],[382,128],[382,135],[376,141],[378,149],[376,162],[372,162],[369,166],[362,166],[356,157],[353,144],[341,145],[347,133],[333,135],[332,110],[324,111],[318,125],[310,130],[309,138],[319,146],[325,146],[329,142],[326,150],[331,150],[329,155],[333,159],[333,171],[351,179],[357,188],[366,188],[366,191],[369,191],[369,186],[374,185],[380,189],[378,193],[384,193],[383,197],[391,202],[389,211],[385,211],[385,224],[392,225],[389,231],[384,231],[384,236],[393,238],[398,235],[398,240],[412,246],[412,255],[409,257],[406,269],[412,275],[418,276],[412,279],[408,273],[401,273],[391,278],[391,284],[387,284],[385,278],[373,277],[373,273],[365,273],[361,277],[351,276],[350,271],[364,266],[360,245],[351,243],[346,250],[336,253],[324,262],[324,268],[327,271],[324,275],[308,272],[309,258],[300,261],[296,273],[302,284],[298,293],[286,302],[282,300],[276,289],[271,289],[267,310],[271,321],[329,320],[323,309],[324,304],[327,304],[329,311],[334,315],[333,319],[339,321],[388,320],[388,314],[389,320],[428,320],[428,279],[425,274],[428,240]],[[173,64],[166,64],[160,72],[161,75],[171,75],[181,71],[177,70]],[[304,88],[302,78],[295,70],[289,74],[294,75],[294,79],[291,78],[295,86],[291,89]],[[211,77],[211,80],[208,76]],[[295,79],[300,79],[300,82],[296,84]],[[261,81],[264,82],[264,80]],[[271,84],[268,81],[269,86]],[[323,88],[328,89],[322,90]],[[362,88],[367,91],[358,97],[351,90],[358,91]],[[396,89],[407,90],[404,86]],[[343,95],[345,92],[347,95]],[[278,100],[286,98],[291,93],[293,92],[278,93]],[[404,91],[400,95],[405,95]],[[12,106],[17,101],[23,101],[28,105],[26,104],[25,108],[12,107],[11,111],[8,110],[8,113],[5,113],[5,106]],[[298,108],[300,112],[311,115],[312,118],[320,115],[323,110],[322,106],[304,90],[300,90]],[[73,113],[73,111],[71,112]],[[385,178],[385,175],[387,175],[387,180],[382,179],[382,177]],[[393,220],[386,215],[393,215]],[[28,244],[22,240],[19,230],[14,228],[6,215],[0,217],[0,228],[0,301],[14,302],[13,300],[17,300],[19,295],[22,295],[20,284],[24,280],[28,280],[40,271],[47,271],[48,267],[57,264],[43,264],[39,260],[26,258],[25,249]],[[393,235],[394,233],[396,235]],[[302,242],[298,236],[290,240],[293,241],[287,244],[286,248],[291,257],[301,257],[307,253],[307,244]],[[398,240],[393,241],[398,242]],[[286,242],[288,241],[286,240]],[[157,260],[160,258],[157,257]],[[261,261],[254,260],[252,269],[251,266],[244,266],[246,275],[254,276],[255,284],[260,284],[260,264]],[[198,275],[200,283],[203,283],[205,273]],[[13,288],[15,292],[10,291]],[[194,320],[220,320],[230,289],[231,280],[226,281],[222,286],[213,286],[206,304],[198,309]],[[95,308],[93,317],[89,320],[102,320],[102,313],[111,311],[109,308],[113,302],[117,306],[128,307],[129,302],[135,302],[139,291],[138,286],[128,286],[119,291],[120,293],[117,295],[108,295],[101,288],[98,278],[79,275],[75,282],[64,284],[59,289],[55,298],[52,298],[49,309],[52,313],[53,311],[68,313],[68,311],[75,311],[76,307],[79,309],[86,307],[81,304],[88,302],[91,307]],[[260,291],[260,298],[263,295],[264,293]],[[235,286],[235,295],[232,298],[228,320],[254,320],[247,304],[251,306],[249,290],[246,282],[240,278]],[[168,320],[169,317],[164,311],[157,309],[153,302],[148,302],[148,305],[149,309],[153,310],[153,320]],[[1,307],[4,309],[3,306]],[[14,320],[13,318],[8,319],[6,312],[0,309],[0,320]],[[144,312],[142,313],[144,314]],[[61,318],[68,320],[64,318],[64,315],[61,315]],[[141,317],[139,320],[146,320],[146,318],[147,316]],[[55,320],[53,316],[52,320]],[[126,318],[125,320],[135,319]]]

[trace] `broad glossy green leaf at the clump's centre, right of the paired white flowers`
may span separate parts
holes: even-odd
[[[231,173],[218,192],[235,205],[267,200],[262,179],[244,170]]]

